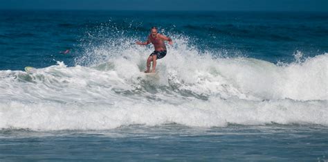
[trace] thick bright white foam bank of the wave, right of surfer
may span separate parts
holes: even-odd
[[[286,66],[246,58],[224,60],[218,69],[242,93],[258,98],[327,100],[327,63],[325,53]]]

